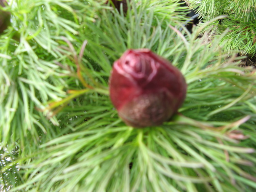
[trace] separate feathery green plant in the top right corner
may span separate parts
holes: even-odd
[[[221,21],[215,21],[205,30],[212,28],[211,35],[221,36],[220,44],[224,50],[236,50],[242,54],[254,55],[256,53],[256,1],[255,0],[185,0],[190,8],[197,9],[203,22],[217,16],[227,16]]]

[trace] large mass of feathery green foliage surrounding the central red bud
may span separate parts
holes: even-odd
[[[131,1],[126,16],[103,0],[16,3],[0,36],[3,190],[255,191],[255,70],[221,51],[225,34],[210,45],[203,27],[181,34],[176,0]],[[127,48],[150,48],[186,78],[184,105],[161,126],[126,126],[109,100]]]

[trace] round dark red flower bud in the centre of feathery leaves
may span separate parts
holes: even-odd
[[[179,69],[148,49],[128,50],[115,61],[110,99],[127,125],[161,125],[183,103],[187,84]]]

